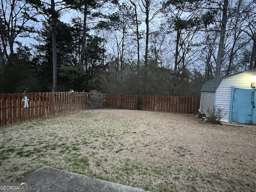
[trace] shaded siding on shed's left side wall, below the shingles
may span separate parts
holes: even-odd
[[[208,110],[212,110],[214,106],[214,96],[215,92],[201,92],[200,112],[202,114],[207,114]]]

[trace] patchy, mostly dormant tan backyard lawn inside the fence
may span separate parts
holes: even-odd
[[[108,109],[0,128],[0,182],[42,166],[152,192],[254,192],[256,128],[212,125],[192,114]]]

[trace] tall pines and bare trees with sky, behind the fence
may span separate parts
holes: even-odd
[[[199,96],[256,67],[254,0],[5,0],[0,92]]]

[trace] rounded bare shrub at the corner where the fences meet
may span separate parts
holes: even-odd
[[[88,100],[86,100],[86,102],[90,106],[90,108],[93,108],[93,109],[102,108],[105,102],[104,94],[99,90],[90,90],[89,98]]]

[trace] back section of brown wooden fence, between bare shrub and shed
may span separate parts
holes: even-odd
[[[200,98],[178,96],[147,96],[104,94],[106,107],[164,111],[177,113],[198,112]]]

